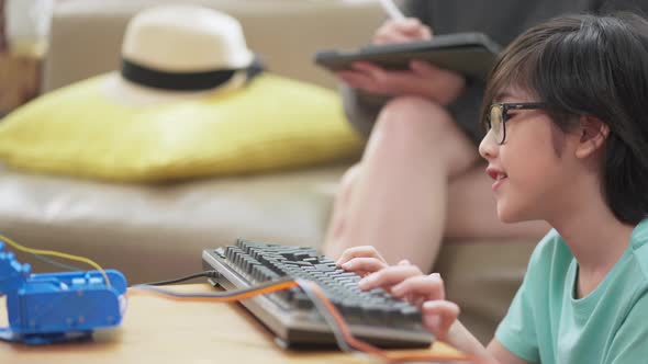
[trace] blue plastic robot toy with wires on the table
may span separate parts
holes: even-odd
[[[0,340],[49,344],[89,338],[94,329],[121,323],[127,285],[119,271],[31,270],[0,241],[0,297],[7,296],[9,318],[9,327],[0,328]]]

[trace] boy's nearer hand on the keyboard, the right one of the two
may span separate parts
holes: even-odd
[[[445,300],[446,293],[440,275],[424,275],[417,266],[406,262],[371,273],[358,284],[362,289],[382,287],[395,297],[420,307],[423,326],[439,340],[447,338],[450,327],[459,316],[459,306]]]

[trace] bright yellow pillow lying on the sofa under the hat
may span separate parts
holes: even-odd
[[[358,156],[335,92],[262,73],[226,94],[124,105],[108,75],[47,93],[0,120],[0,160],[122,182],[261,172]]]

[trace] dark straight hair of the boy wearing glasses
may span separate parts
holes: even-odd
[[[603,194],[623,223],[648,213],[648,22],[633,13],[568,15],[518,36],[491,70],[482,104],[507,87],[546,102],[562,130],[581,115],[607,124]]]

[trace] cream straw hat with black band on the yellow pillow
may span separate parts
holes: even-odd
[[[199,5],[158,5],[137,13],[122,43],[122,69],[104,80],[129,104],[211,96],[241,88],[258,71],[238,21]]]

